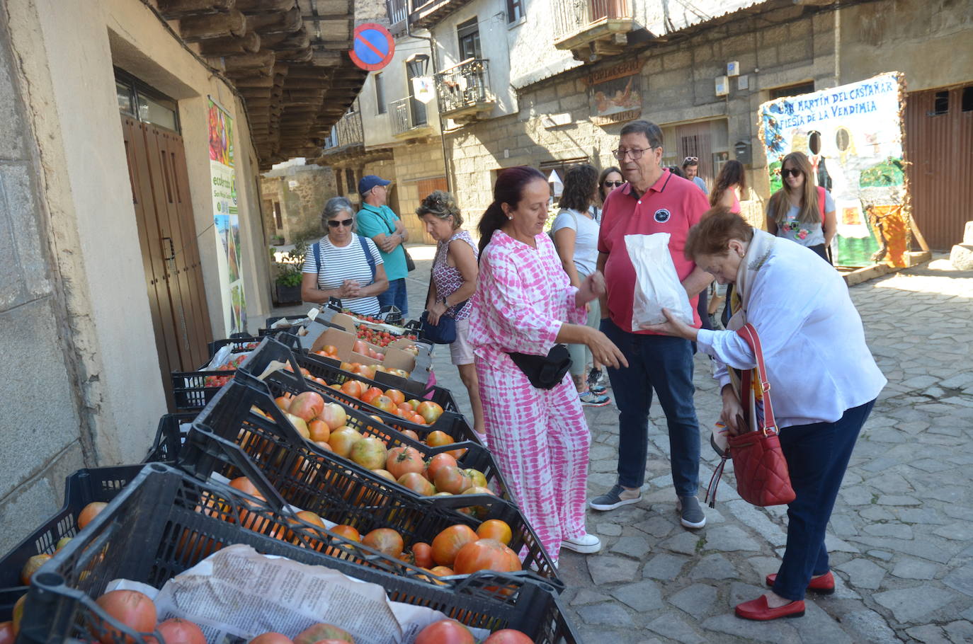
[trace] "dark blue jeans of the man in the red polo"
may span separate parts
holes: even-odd
[[[700,423],[693,405],[693,347],[689,340],[633,334],[610,319],[601,332],[615,342],[629,361],[624,369],[608,369],[618,406],[618,483],[641,487],[649,447],[652,390],[666,412],[669,463],[678,496],[696,496],[700,479]]]

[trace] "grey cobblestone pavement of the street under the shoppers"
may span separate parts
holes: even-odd
[[[431,247],[411,249],[411,317],[422,309]],[[838,591],[809,597],[796,620],[739,620],[785,543],[784,508],[736,495],[732,472],[707,525],[679,525],[665,416],[653,405],[642,500],[588,511],[598,555],[563,551],[567,611],[586,642],[973,642],[973,272],[943,259],[851,288],[889,383],[855,447],[828,545]],[[439,382],[467,405],[449,362]],[[697,356],[696,405],[706,436],[719,413],[708,359]],[[610,391],[609,391],[610,393]],[[467,408],[468,413],[468,408]],[[594,443],[589,491],[615,483],[617,410],[587,411]],[[703,442],[701,482],[716,458]],[[731,468],[728,468],[731,469]]]

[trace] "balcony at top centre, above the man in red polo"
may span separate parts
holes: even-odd
[[[560,0],[554,8],[554,46],[584,62],[621,54],[637,28],[631,0]]]

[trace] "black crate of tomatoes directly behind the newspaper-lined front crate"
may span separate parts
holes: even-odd
[[[262,413],[252,411],[254,407]],[[407,442],[406,438],[400,444],[407,445]],[[208,479],[213,473],[227,479],[240,476],[266,479],[267,485],[276,490],[273,493],[281,495],[281,503],[310,510],[336,523],[350,521],[355,527],[360,524],[366,531],[394,527],[403,534],[407,545],[416,541],[430,543],[440,530],[452,523],[477,526],[482,520],[501,519],[514,533],[510,547],[521,554],[524,568],[528,570],[524,574],[536,574],[559,590],[564,588],[550,556],[512,500],[489,494],[421,496],[306,441],[268,394],[238,379],[227,385],[199,414],[180,454],[178,467],[198,479]],[[491,476],[493,481],[503,484],[496,475]],[[382,510],[400,506],[416,511],[397,510],[386,515]],[[470,512],[476,518],[464,514]],[[433,522],[426,522],[423,517]],[[375,520],[387,522],[377,524],[372,522]]]

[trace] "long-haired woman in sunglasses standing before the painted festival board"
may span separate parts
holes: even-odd
[[[831,194],[811,180],[811,161],[803,152],[792,152],[780,166],[783,188],[767,204],[767,232],[807,246],[828,259],[838,229],[835,202]]]

